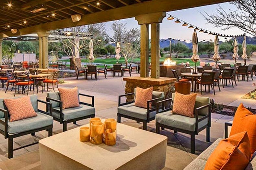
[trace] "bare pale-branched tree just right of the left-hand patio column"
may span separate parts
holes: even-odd
[[[74,67],[76,58],[81,50],[89,51],[89,42],[93,38],[94,46],[101,44],[99,41],[105,35],[105,24],[82,25],[52,31],[56,39],[62,44],[64,52],[72,59]],[[77,65],[80,67],[80,65]]]

